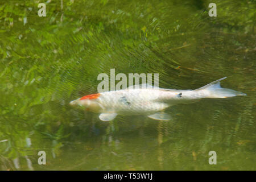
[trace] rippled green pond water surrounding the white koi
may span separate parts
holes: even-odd
[[[214,1],[216,17],[200,0],[47,1],[46,17],[38,3],[0,3],[1,170],[256,169],[255,1]],[[112,68],[172,89],[226,76],[247,96],[172,106],[171,121],[68,105]]]

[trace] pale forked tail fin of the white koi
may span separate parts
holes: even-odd
[[[219,80],[213,81],[210,84],[207,84],[199,89],[205,95],[205,98],[226,98],[226,97],[235,97],[235,96],[246,96],[245,93],[237,92],[236,90],[221,88],[220,81],[224,80],[220,78]]]

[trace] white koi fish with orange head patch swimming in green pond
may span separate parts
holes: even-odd
[[[163,113],[167,107],[188,104],[201,98],[227,98],[246,96],[245,93],[221,88],[219,80],[213,81],[195,90],[175,90],[156,88],[142,84],[127,89],[91,94],[71,101],[70,105],[79,105],[94,113],[101,113],[102,121],[111,121],[119,115],[147,115],[156,120],[168,121],[170,115]]]

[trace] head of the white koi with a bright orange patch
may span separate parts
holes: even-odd
[[[101,110],[101,104],[98,102],[97,98],[100,94],[92,94],[84,97],[80,97],[77,100],[73,100],[69,102],[71,106],[79,106],[82,109],[86,109],[88,111],[93,111],[98,113]]]

